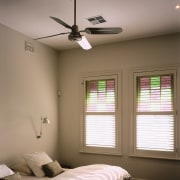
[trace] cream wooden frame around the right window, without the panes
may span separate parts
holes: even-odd
[[[143,69],[131,69],[130,75],[130,89],[131,89],[131,145],[130,145],[130,156],[135,157],[147,157],[147,158],[160,158],[160,159],[180,159],[180,153],[178,151],[180,147],[180,140],[178,139],[179,121],[177,116],[177,102],[178,102],[178,67],[177,66],[164,66],[164,67],[146,67]],[[164,75],[164,74],[173,74],[173,101],[174,101],[174,151],[154,151],[154,150],[138,150],[136,149],[136,77],[141,77],[145,75]]]

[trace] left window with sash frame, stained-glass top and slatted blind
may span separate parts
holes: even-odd
[[[117,74],[83,77],[83,152],[120,154],[117,87]]]

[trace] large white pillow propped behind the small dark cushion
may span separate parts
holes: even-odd
[[[25,154],[23,157],[37,177],[44,177],[45,173],[42,169],[42,165],[52,162],[52,159],[45,152]]]

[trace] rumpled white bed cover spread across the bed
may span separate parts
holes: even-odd
[[[119,166],[93,164],[67,170],[53,178],[23,176],[22,180],[123,180],[128,177],[129,173]]]

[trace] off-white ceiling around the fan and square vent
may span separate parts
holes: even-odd
[[[92,46],[180,32],[180,0],[77,0],[79,30],[86,27],[122,27],[117,35],[86,35]],[[69,25],[74,21],[73,0],[0,0],[0,23],[32,39],[69,32],[49,16]],[[87,18],[102,15],[106,23],[92,25]],[[83,33],[81,33],[83,34]],[[39,40],[55,49],[78,47],[60,35]]]

